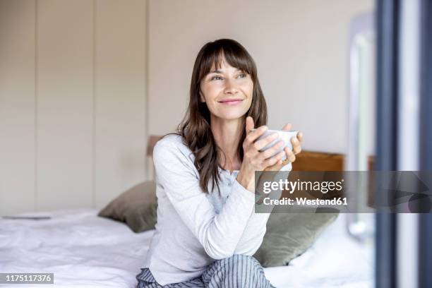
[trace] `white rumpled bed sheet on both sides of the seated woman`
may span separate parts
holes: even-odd
[[[0,272],[51,272],[54,287],[136,287],[153,230],[136,234],[97,212],[57,210],[28,213],[50,220],[0,220]],[[268,280],[278,288],[373,287],[371,251],[350,239],[343,224],[340,215],[290,265],[265,268]]]

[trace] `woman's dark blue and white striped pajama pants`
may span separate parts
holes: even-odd
[[[137,288],[275,288],[265,279],[263,267],[256,258],[235,254],[222,260],[215,260],[200,277],[186,282],[160,285],[148,268],[136,275]]]

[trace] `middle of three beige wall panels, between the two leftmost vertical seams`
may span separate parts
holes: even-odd
[[[92,205],[93,2],[37,1],[37,209]]]

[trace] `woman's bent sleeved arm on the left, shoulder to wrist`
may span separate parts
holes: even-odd
[[[158,185],[205,252],[214,259],[232,256],[253,212],[255,195],[235,180],[217,215],[200,188],[193,163],[175,143],[159,141],[153,150],[153,161]]]

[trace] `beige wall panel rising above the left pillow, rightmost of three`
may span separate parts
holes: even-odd
[[[95,9],[95,205],[145,180],[145,1]]]

